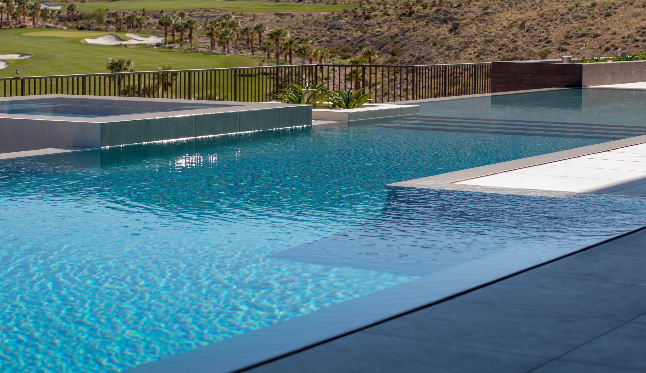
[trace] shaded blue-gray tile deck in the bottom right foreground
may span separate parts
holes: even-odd
[[[646,372],[646,229],[249,373]]]

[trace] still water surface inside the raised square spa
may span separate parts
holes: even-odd
[[[194,109],[233,107],[222,103],[202,103],[192,105],[186,102],[115,100],[108,98],[34,98],[33,100],[0,101],[0,114],[74,116],[98,118],[127,114],[147,114],[151,112],[170,112]]]

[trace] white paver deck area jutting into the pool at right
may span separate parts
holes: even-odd
[[[646,145],[578,156],[455,184],[646,197]]]

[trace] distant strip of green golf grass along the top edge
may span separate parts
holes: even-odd
[[[67,3],[61,3],[63,8]],[[262,0],[118,0],[118,1],[90,1],[79,3],[79,10],[85,12],[96,8],[123,9],[123,10],[169,10],[169,9],[220,9],[231,12],[339,12],[344,8],[354,8],[359,5],[318,5],[298,3],[275,3]]]

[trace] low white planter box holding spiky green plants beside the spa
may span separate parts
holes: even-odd
[[[349,122],[351,120],[387,118],[419,114],[419,105],[395,105],[391,103],[366,103],[357,109],[312,109],[312,120],[334,120]]]

